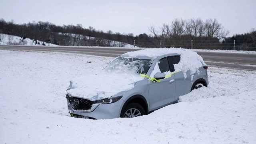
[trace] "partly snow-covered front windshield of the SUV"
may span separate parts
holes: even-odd
[[[108,64],[103,72],[146,74],[152,64],[152,60],[139,58],[118,57]]]

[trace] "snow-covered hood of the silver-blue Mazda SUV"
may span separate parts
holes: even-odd
[[[70,81],[66,93],[71,96],[99,100],[110,98],[118,92],[127,91],[134,87],[134,83],[143,80],[139,74],[100,73],[74,78]]]

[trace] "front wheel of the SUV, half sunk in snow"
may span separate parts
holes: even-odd
[[[142,106],[136,102],[127,104],[121,113],[121,118],[134,118],[137,116],[143,116],[146,112]]]

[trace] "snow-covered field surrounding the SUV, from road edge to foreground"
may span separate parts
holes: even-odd
[[[63,93],[69,80],[112,59],[0,50],[0,143],[256,143],[255,71],[209,67],[208,88],[138,118],[70,117]]]

